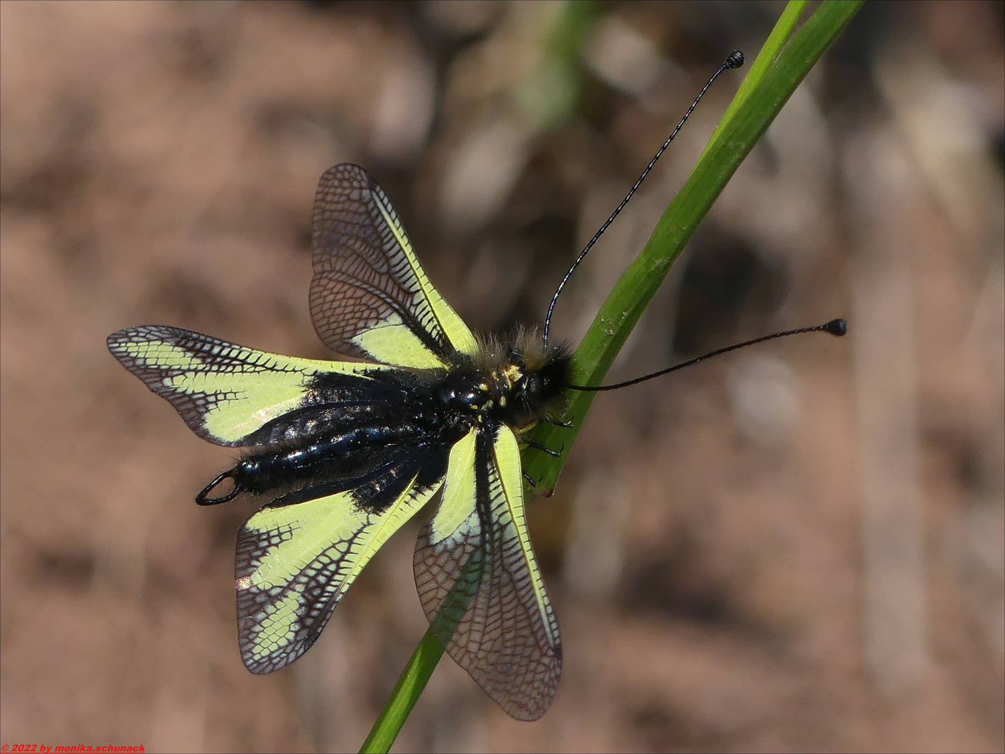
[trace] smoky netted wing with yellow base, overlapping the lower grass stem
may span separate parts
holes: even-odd
[[[527,533],[509,427],[494,437],[473,430],[454,445],[443,502],[419,535],[414,566],[419,600],[450,656],[515,718],[544,715],[562,645]]]

